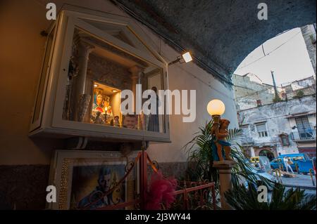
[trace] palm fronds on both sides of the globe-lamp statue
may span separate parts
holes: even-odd
[[[192,181],[209,180],[215,182],[218,188],[218,173],[213,168],[213,153],[211,147],[211,127],[213,121],[206,123],[204,127],[199,128],[197,133],[194,133],[194,138],[185,145],[188,153],[189,162],[194,162],[196,166],[188,169],[188,178]],[[237,165],[232,169],[232,184],[237,186],[241,181],[249,181],[255,185],[266,185],[272,187],[271,180],[259,176],[257,173],[252,172],[252,167],[247,158],[242,153],[242,146],[240,142],[243,138],[241,129],[228,130],[228,142],[231,143],[231,157],[237,162]]]

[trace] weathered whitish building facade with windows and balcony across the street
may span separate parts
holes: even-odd
[[[316,157],[316,95],[238,111],[249,157],[305,152]]]

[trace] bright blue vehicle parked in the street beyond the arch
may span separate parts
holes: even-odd
[[[293,162],[290,166],[294,172],[297,172],[296,164],[299,169],[299,173],[307,174],[309,173],[309,169],[313,169],[312,160],[304,153],[281,154],[278,158],[272,160],[271,168],[279,169],[280,166],[282,166],[282,169],[286,170],[283,162],[284,157],[287,157],[287,159],[290,159]]]

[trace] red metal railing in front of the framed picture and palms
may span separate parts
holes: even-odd
[[[89,203],[85,205],[84,208],[80,208],[80,210],[90,210],[94,204],[97,204],[100,199],[106,197],[107,195],[111,194],[113,191],[116,190],[120,183],[128,177],[129,173],[131,173],[132,169],[135,166],[139,166],[139,187],[140,192],[137,194],[135,192],[135,198],[131,199],[129,202],[120,202],[118,204],[111,204],[111,205],[104,205],[98,208],[94,208],[96,210],[116,210],[116,209],[145,209],[145,198],[147,195],[147,166],[150,165],[151,169],[154,172],[158,172],[158,169],[155,166],[156,162],[152,162],[147,152],[142,150],[137,154],[137,157],[133,162],[130,162],[129,165],[126,167],[126,173],[123,178],[121,178],[117,185],[112,187],[108,192],[104,192],[103,194],[99,194],[99,197],[94,199],[89,199]],[[209,209],[216,210],[216,192],[215,192],[215,183],[206,183],[206,182],[184,182],[184,185],[178,186],[174,192],[171,192],[172,195],[175,195],[175,201],[177,201],[177,197],[179,196],[180,203],[182,208],[181,209],[192,209],[193,203],[194,206],[197,208],[197,205],[201,209]],[[166,209],[165,204],[161,204],[161,209]],[[173,209],[173,208],[171,208]]]

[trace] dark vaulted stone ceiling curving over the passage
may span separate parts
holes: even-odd
[[[316,0],[113,2],[165,36],[176,50],[191,51],[197,65],[223,80],[264,41],[316,22]],[[261,2],[268,6],[268,20],[257,18]]]

